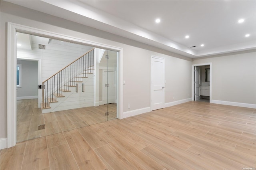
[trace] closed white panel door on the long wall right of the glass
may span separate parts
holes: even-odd
[[[151,110],[164,108],[164,58],[151,57]]]

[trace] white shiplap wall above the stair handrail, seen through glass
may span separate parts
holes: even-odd
[[[38,43],[40,42],[32,41],[32,50],[17,49],[17,57],[42,59],[41,82],[45,81],[93,48],[86,45],[61,42],[60,40],[51,40],[50,43],[44,44],[46,45],[46,49],[39,49]]]

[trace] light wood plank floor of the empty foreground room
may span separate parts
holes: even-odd
[[[1,170],[256,168],[256,109],[188,102],[1,150]]]

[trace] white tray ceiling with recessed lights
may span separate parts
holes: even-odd
[[[255,0],[8,2],[191,58],[256,49]],[[156,18],[161,22],[156,24]]]

